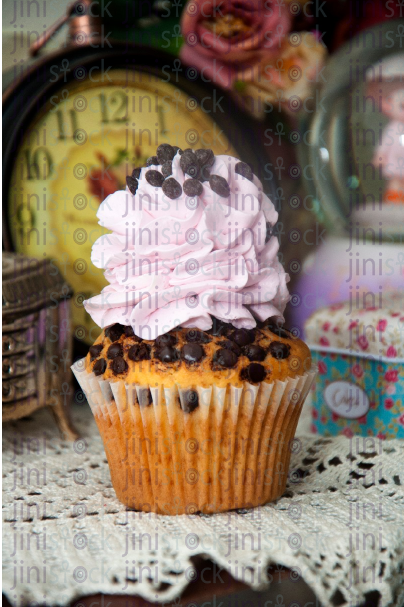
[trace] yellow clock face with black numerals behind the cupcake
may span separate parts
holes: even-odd
[[[111,70],[103,83],[74,82],[53,95],[25,133],[9,190],[9,221],[18,252],[51,257],[72,285],[75,335],[93,342],[99,328],[82,302],[105,286],[90,261],[105,229],[96,213],[125,188],[160,143],[211,148],[237,156],[193,97],[157,76]]]

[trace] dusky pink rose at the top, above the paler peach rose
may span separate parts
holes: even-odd
[[[182,13],[184,63],[231,89],[240,68],[251,70],[279,52],[291,25],[290,11],[275,0],[190,0]]]

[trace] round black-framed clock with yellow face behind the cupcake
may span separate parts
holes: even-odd
[[[157,145],[239,156],[275,191],[259,126],[226,94],[171,55],[91,40],[40,59],[3,96],[5,247],[55,259],[85,342],[98,329],[82,302],[105,284],[90,262],[97,208]]]

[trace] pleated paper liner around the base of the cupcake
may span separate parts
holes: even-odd
[[[251,508],[285,490],[292,440],[314,380],[165,388],[108,381],[72,366],[101,437],[118,499],[160,514]],[[199,406],[185,412],[185,393]],[[150,398],[151,396],[151,398]]]

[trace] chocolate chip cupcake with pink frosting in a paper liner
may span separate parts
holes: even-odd
[[[84,305],[102,332],[73,365],[114,489],[161,514],[265,504],[314,378],[282,326],[277,213],[236,158],[162,144],[147,165],[98,210],[109,285]]]

